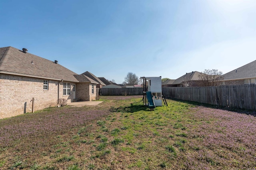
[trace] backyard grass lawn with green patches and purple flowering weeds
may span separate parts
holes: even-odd
[[[2,170],[256,168],[256,117],[142,96],[54,107],[0,120]]]

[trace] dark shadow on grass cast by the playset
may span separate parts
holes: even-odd
[[[150,111],[150,109],[144,105],[134,105],[134,104],[130,104],[130,106],[120,106],[120,107],[110,108],[110,112],[134,113],[137,111]]]

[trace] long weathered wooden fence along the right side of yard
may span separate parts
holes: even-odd
[[[224,107],[256,109],[256,84],[162,88],[166,98],[188,100]]]

